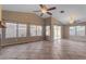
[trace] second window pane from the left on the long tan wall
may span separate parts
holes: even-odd
[[[19,37],[26,37],[27,35],[27,25],[19,24]]]

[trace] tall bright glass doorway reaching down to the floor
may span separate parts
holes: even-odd
[[[53,40],[61,39],[61,26],[53,26]]]

